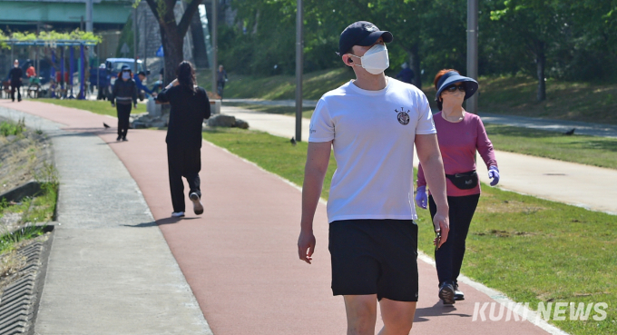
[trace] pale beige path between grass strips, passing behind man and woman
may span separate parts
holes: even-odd
[[[250,124],[250,129],[289,137],[295,134],[292,116],[261,113],[240,107],[221,107],[221,113],[234,115]],[[302,120],[302,141],[309,139],[308,119]],[[556,202],[570,203],[593,211],[617,214],[617,170],[567,163],[520,153],[495,151],[500,187]],[[414,164],[417,166],[417,156]],[[477,164],[482,182],[490,182],[484,163]]]

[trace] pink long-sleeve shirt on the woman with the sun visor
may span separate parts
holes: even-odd
[[[488,139],[485,125],[479,116],[465,113],[463,121],[451,123],[446,121],[439,112],[433,115],[433,119],[446,174],[475,170],[475,150],[482,156],[486,167],[497,166],[493,143]],[[417,186],[426,186],[422,164],[418,165]],[[446,178],[446,191],[447,196],[453,197],[478,194],[480,193],[480,182],[473,189],[461,190]]]

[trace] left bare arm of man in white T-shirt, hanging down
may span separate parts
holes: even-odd
[[[302,218],[298,238],[298,254],[301,261],[310,264],[315,251],[313,235],[313,218],[321,196],[324,178],[328,171],[332,141],[309,143],[307,164],[304,167],[304,184],[302,185]]]

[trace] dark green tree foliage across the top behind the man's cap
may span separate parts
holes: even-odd
[[[416,74],[424,70],[425,81],[442,68],[465,74],[465,0],[303,3],[307,72],[341,66],[339,34],[367,20],[394,34],[390,71],[407,62]],[[221,63],[242,74],[293,74],[296,0],[231,5],[238,22],[220,27]],[[617,0],[483,0],[479,25],[480,74],[533,75],[540,90],[544,78],[605,81],[617,74]]]

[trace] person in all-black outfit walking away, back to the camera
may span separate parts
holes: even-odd
[[[157,96],[161,103],[170,103],[170,120],[167,128],[167,164],[170,177],[172,217],[184,216],[184,184],[189,182],[189,198],[193,211],[200,215],[201,204],[201,124],[210,118],[210,101],[206,91],[195,85],[195,70],[189,62],[182,62],[176,69],[177,79]]]

